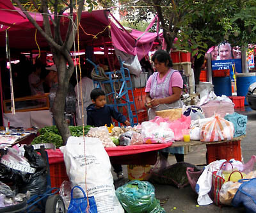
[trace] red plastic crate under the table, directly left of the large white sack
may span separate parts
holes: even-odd
[[[64,162],[49,164],[49,166],[52,187],[60,188],[64,180],[69,181]]]

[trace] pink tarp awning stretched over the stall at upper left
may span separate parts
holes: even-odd
[[[13,10],[17,12],[13,12]],[[43,26],[40,13],[30,13],[30,15],[40,26]],[[22,14],[19,8],[15,8],[12,5],[10,0],[2,0],[0,2],[0,17],[0,24],[4,25],[2,29],[0,28],[0,47],[5,46],[4,29],[6,29],[6,26],[11,26],[9,29],[10,48],[22,49],[22,51],[38,49],[37,42],[40,49],[49,49],[49,44],[45,38],[40,33],[36,33],[35,27]],[[111,36],[109,35],[108,26],[110,26]],[[68,19],[63,17],[60,26],[63,39],[67,28]],[[140,40],[136,41],[140,36]],[[103,46],[106,42],[112,42],[116,49],[133,56],[137,54],[138,58],[141,59],[148,54],[156,38],[157,33],[143,33],[132,30],[128,34],[109,19],[108,10],[96,10],[91,13],[83,12],[81,15],[81,27],[79,28],[80,49],[84,49],[86,45]]]

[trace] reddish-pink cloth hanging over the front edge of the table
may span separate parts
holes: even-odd
[[[141,152],[151,152],[154,150],[161,150],[163,148],[172,146],[170,143],[157,143],[157,144],[143,144],[143,145],[132,145],[132,146],[116,146],[105,148],[109,157],[120,156],[120,155],[132,155]],[[63,153],[60,149],[46,150],[48,154],[49,164],[63,162]]]

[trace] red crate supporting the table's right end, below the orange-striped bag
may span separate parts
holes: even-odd
[[[207,164],[220,159],[236,159],[241,161],[241,146],[240,141],[231,141],[225,143],[216,143],[206,145],[207,148]]]

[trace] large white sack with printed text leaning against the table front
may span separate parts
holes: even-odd
[[[86,137],[84,148],[83,137],[70,137],[67,145],[61,146],[60,150],[64,155],[67,175],[72,187],[79,185],[85,192],[87,185],[88,196],[94,196],[99,213],[124,212],[115,195],[109,156],[98,138]],[[81,198],[83,194],[77,190],[74,192],[74,197]]]

